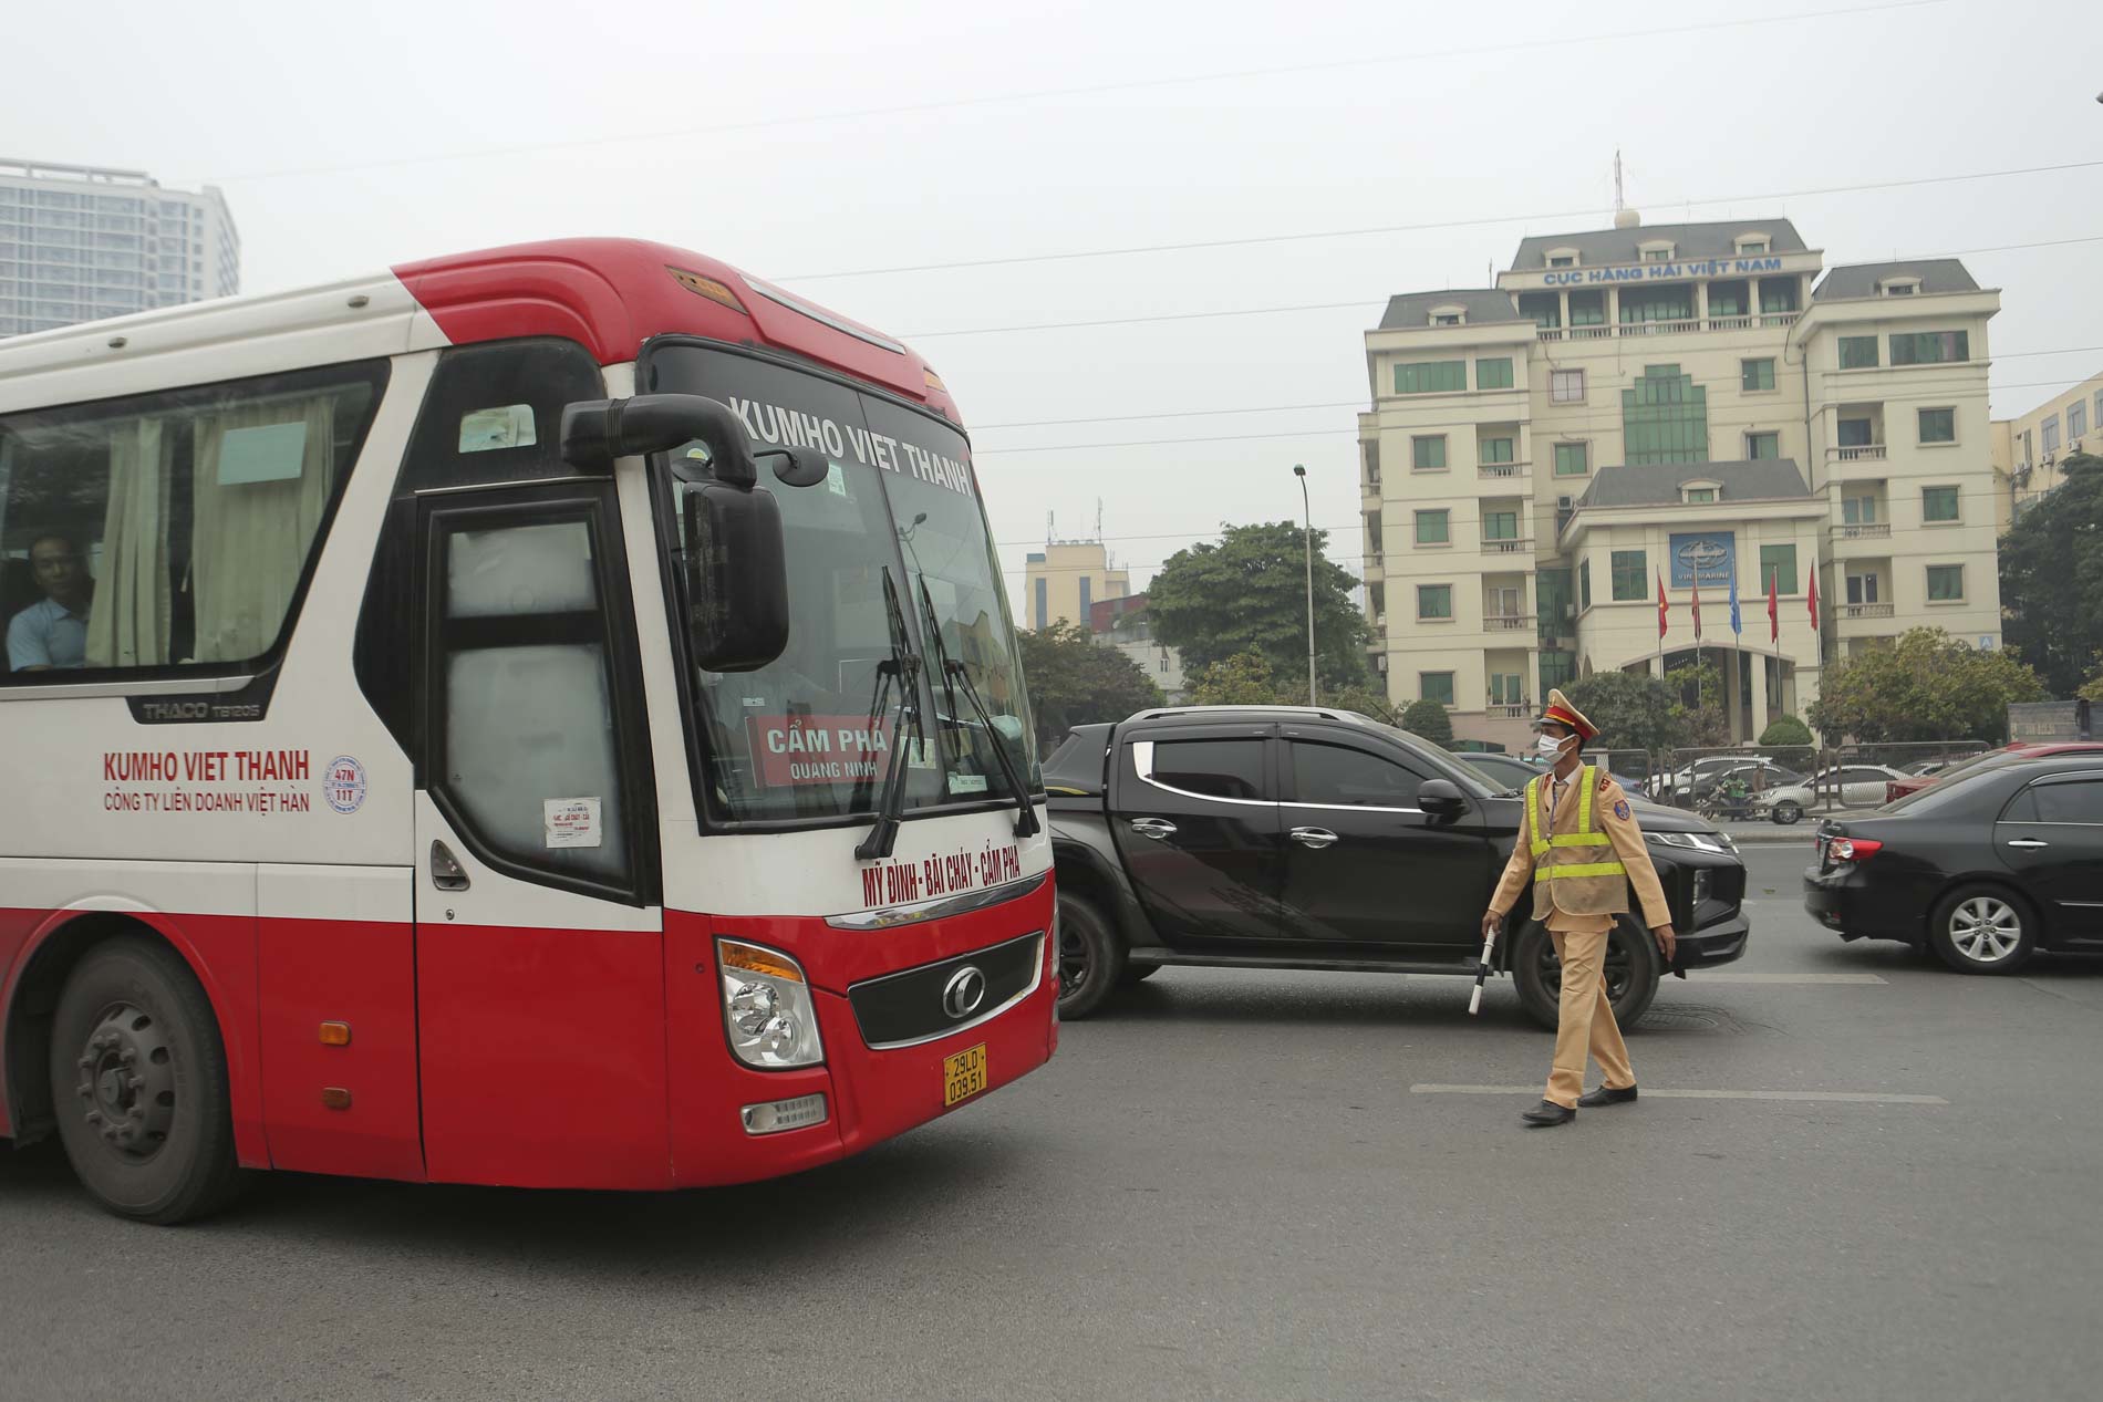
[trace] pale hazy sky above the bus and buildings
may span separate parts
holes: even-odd
[[[1012,586],[1047,511],[1089,534],[1102,498],[1142,586],[1222,521],[1298,517],[1293,462],[1356,572],[1363,330],[1605,227],[1615,147],[1649,223],[1964,252],[2002,288],[1998,416],[2103,366],[2103,164],[1788,193],[2103,162],[2092,0],[1016,8],[13,6],[0,156],[221,185],[250,292],[576,233],[776,277],[948,380]],[[1426,223],[1464,227],[822,277]],[[1966,252],[2046,240],[2088,242]],[[1304,303],[1342,305],[988,330]]]

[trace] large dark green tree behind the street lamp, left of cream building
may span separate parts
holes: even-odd
[[[1314,532],[1314,662],[1323,692],[1365,683],[1369,633],[1350,601],[1359,580],[1323,557],[1327,538]],[[1281,685],[1306,675],[1306,561],[1291,521],[1228,525],[1218,544],[1176,551],[1146,597],[1161,641],[1182,650],[1190,673],[1255,652]]]

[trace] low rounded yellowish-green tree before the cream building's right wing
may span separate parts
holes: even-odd
[[[2008,704],[2044,698],[2038,673],[2006,652],[1977,652],[1941,628],[1910,628],[1825,666],[1811,723],[1828,740],[2006,740]]]

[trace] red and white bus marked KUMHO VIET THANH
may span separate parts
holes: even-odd
[[[969,444],[904,345],[646,242],[0,341],[0,1137],[732,1183],[1058,1045]]]

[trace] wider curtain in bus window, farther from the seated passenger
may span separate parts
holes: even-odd
[[[196,435],[196,660],[238,662],[261,656],[292,607],[336,477],[336,395],[204,414]]]

